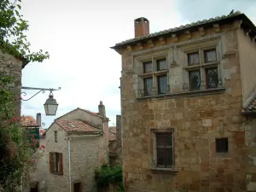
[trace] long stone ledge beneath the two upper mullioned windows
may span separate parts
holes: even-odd
[[[207,95],[224,93],[225,90],[226,89],[224,87],[211,89],[211,90],[195,90],[195,91],[171,93],[171,94],[158,95],[158,96],[143,96],[143,97],[138,97],[137,100],[148,100],[148,99],[154,99],[154,98],[169,98],[169,97],[178,98],[178,97],[184,97],[184,96],[207,96]]]

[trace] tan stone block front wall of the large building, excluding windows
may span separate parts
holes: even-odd
[[[241,71],[235,26],[236,23],[230,32],[226,32],[230,30],[230,26],[221,26],[222,31],[219,33],[220,74],[225,87],[223,93],[137,99],[133,51],[146,50],[148,45],[132,47],[132,51],[124,49],[121,77],[122,154],[128,191],[247,190],[245,136],[241,129],[244,122],[241,117]],[[207,30],[202,41],[207,41],[207,36],[214,33],[213,30]],[[201,36],[195,32],[192,40],[193,38]],[[183,51],[183,45],[178,46],[178,43],[185,41],[188,41],[186,35],[178,36],[175,43],[177,49]],[[165,44],[174,43],[172,39],[166,39]],[[152,52],[157,52],[157,48],[162,45],[162,42],[154,42],[155,49]],[[176,54],[178,67],[182,68],[183,61],[178,61],[180,56],[182,55]],[[177,69],[177,72],[181,72],[177,76],[183,75],[183,70]],[[170,79],[172,80],[172,76]],[[177,84],[183,84],[180,82],[182,80],[184,79],[176,79]],[[173,84],[170,85],[173,86],[172,93],[175,90],[182,92]],[[224,122],[224,131],[220,128],[221,121]],[[152,172],[151,168],[155,168],[152,128],[174,130],[174,169],[177,175]],[[216,137],[229,138],[229,153],[216,153]]]

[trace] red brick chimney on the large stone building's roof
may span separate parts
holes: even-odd
[[[144,17],[134,20],[135,38],[149,34],[149,20]]]

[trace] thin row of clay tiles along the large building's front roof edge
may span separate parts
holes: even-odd
[[[235,13],[230,14],[230,15],[216,16],[216,17],[212,17],[212,18],[207,19],[207,20],[197,20],[196,22],[192,22],[192,23],[186,24],[184,26],[181,25],[181,26],[169,28],[169,29],[166,29],[166,30],[162,30],[160,32],[149,33],[147,35],[143,35],[143,36],[140,36],[140,37],[137,37],[137,38],[130,38],[130,39],[122,41],[118,44],[115,44],[113,47],[123,45],[123,44],[137,42],[138,40],[143,40],[145,38],[154,38],[156,36],[163,35],[163,34],[166,34],[168,32],[177,32],[179,30],[183,30],[183,29],[189,28],[191,26],[201,26],[201,25],[206,24],[208,22],[223,20],[223,19],[227,19],[227,18],[234,17],[234,16],[237,16],[237,15],[243,15],[243,14],[240,11],[236,11]]]

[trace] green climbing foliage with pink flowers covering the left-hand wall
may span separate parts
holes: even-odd
[[[20,96],[9,90],[14,79],[0,73],[0,191],[15,192],[21,177],[32,167],[32,148],[26,130],[15,116],[15,105]]]

